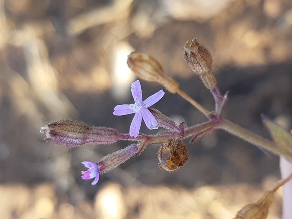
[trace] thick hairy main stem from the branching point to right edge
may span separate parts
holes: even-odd
[[[261,148],[265,148],[268,151],[271,151],[277,155],[284,155],[286,157],[292,158],[292,154],[286,150],[280,149],[276,147],[276,145],[268,139],[264,139],[263,137],[256,135],[228,120],[221,120],[219,125],[216,127],[219,129],[223,129],[253,145],[256,145]]]

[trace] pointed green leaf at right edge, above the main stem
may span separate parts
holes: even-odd
[[[268,119],[266,116],[262,115],[262,121],[268,128],[276,146],[292,153],[292,134]]]

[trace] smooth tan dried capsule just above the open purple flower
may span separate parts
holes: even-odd
[[[165,75],[162,66],[153,57],[139,52],[132,52],[128,56],[127,64],[139,78],[149,82],[158,82],[171,93],[177,92],[178,82]]]

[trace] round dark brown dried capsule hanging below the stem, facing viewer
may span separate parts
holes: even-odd
[[[159,147],[157,156],[160,168],[175,172],[185,165],[189,158],[189,153],[182,140],[170,139]]]

